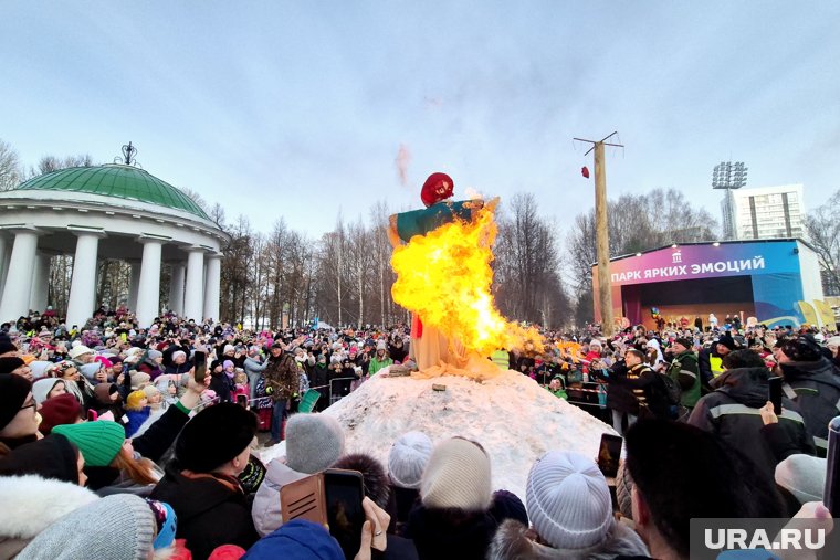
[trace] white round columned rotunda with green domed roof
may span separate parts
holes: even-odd
[[[130,263],[128,307],[143,326],[160,315],[160,272],[171,265],[169,309],[219,319],[221,247],[229,236],[171,184],[129,165],[62,169],[0,192],[0,323],[48,305],[52,255],[73,254],[66,324],[97,307],[99,258]]]

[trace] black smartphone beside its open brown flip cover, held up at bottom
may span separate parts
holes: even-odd
[[[354,558],[361,546],[361,526],[365,510],[361,500],[365,489],[361,473],[327,468],[324,471],[324,503],[327,508],[329,533],[344,550],[345,558]]]

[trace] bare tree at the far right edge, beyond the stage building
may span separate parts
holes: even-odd
[[[806,216],[805,230],[819,255],[826,295],[840,295],[840,190]]]

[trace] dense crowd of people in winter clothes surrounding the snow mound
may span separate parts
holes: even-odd
[[[0,559],[684,559],[692,518],[799,515],[830,529],[818,503],[840,337],[661,327],[546,330],[492,357],[558,398],[602,395],[624,436],[615,480],[595,457],[547,450],[516,496],[492,487],[480,441],[409,432],[382,464],[347,453],[346,427],[319,412],[389,366],[410,370],[408,327],[22,317],[0,326]],[[283,440],[263,464],[258,452]],[[330,467],[363,476],[355,551],[282,516],[283,487]]]

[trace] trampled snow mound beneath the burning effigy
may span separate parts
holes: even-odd
[[[445,391],[432,384],[447,385]],[[505,371],[482,383],[463,377],[388,378],[380,374],[329,406],[346,427],[347,452],[366,452],[387,465],[391,444],[410,431],[433,442],[460,435],[482,444],[491,457],[493,488],[523,500],[531,465],[546,451],[598,454],[601,433],[610,426],[568,404],[534,380]],[[264,450],[263,461],[285,454],[285,443]]]

